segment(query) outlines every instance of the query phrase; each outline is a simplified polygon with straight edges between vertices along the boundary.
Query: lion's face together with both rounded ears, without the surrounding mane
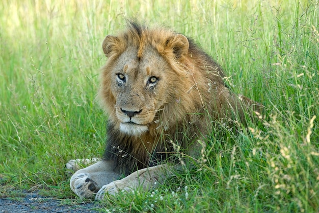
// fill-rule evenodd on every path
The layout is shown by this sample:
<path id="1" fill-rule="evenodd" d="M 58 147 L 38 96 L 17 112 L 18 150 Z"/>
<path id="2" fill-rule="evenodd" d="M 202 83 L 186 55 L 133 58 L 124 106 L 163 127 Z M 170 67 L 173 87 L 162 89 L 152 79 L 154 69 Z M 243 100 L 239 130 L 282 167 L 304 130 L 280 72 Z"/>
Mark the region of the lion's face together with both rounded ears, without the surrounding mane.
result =
<path id="1" fill-rule="evenodd" d="M 156 43 L 152 45 L 151 41 L 147 40 L 153 36 L 152 34 L 145 35 L 144 38 L 139 34 L 128 35 L 127 38 L 108 36 L 103 42 L 103 50 L 109 60 L 116 57 L 111 64 L 108 63 L 108 73 L 105 73 L 110 85 L 109 96 L 112 96 L 110 107 L 113 108 L 111 110 L 115 115 L 111 115 L 111 119 L 119 122 L 122 132 L 131 135 L 147 132 L 155 121 L 156 113 L 164 110 L 164 106 L 172 102 L 171 99 L 176 97 L 178 92 L 175 91 L 177 88 L 174 89 L 176 87 L 174 82 L 180 79 L 163 54 L 156 49 Z M 166 50 L 163 51 L 175 49 L 176 53 L 173 53 L 175 57 L 182 57 L 176 54 L 187 52 L 187 39 L 182 35 L 174 35 L 169 39 L 178 39 L 180 42 L 162 43 L 160 46 L 166 45 Z"/>

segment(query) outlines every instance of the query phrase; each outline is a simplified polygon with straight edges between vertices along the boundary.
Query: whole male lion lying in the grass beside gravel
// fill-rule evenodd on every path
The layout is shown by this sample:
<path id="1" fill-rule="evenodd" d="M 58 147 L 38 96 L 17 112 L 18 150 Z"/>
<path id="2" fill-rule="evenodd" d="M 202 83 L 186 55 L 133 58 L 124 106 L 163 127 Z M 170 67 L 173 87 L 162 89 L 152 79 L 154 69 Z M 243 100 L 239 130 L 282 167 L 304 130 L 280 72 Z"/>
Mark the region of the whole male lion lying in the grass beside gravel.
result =
<path id="1" fill-rule="evenodd" d="M 178 167 L 176 146 L 197 157 L 212 122 L 245 122 L 245 113 L 260 109 L 229 90 L 221 66 L 193 39 L 170 29 L 130 20 L 102 49 L 108 60 L 97 97 L 108 114 L 107 146 L 102 160 L 70 179 L 81 199 L 163 183 Z M 78 161 L 67 168 L 78 169 Z"/>

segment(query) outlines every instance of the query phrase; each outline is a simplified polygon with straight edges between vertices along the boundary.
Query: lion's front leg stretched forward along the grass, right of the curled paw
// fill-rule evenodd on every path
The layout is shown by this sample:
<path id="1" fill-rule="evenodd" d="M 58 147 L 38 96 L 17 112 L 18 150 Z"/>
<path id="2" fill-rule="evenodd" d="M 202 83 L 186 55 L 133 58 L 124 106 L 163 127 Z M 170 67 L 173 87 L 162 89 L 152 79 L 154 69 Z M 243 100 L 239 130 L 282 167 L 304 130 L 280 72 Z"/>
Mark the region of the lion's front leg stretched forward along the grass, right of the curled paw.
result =
<path id="1" fill-rule="evenodd" d="M 149 190 L 156 185 L 163 183 L 167 177 L 167 164 L 156 165 L 138 170 L 121 180 L 115 180 L 103 185 L 95 196 L 95 200 L 102 200 L 105 194 L 115 195 L 121 191 L 132 191 L 139 187 Z"/>

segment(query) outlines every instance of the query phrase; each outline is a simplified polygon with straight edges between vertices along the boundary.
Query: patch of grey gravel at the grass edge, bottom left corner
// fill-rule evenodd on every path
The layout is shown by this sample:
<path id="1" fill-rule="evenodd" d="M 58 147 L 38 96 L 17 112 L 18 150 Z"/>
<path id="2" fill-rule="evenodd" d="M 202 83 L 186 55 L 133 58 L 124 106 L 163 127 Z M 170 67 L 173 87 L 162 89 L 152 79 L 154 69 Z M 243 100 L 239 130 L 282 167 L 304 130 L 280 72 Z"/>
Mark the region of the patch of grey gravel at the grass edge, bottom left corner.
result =
<path id="1" fill-rule="evenodd" d="M 0 213 L 100 212 L 94 210 L 96 208 L 98 206 L 94 203 L 65 204 L 59 199 L 41 197 L 35 193 L 26 193 L 26 196 L 19 200 L 0 198 Z"/>

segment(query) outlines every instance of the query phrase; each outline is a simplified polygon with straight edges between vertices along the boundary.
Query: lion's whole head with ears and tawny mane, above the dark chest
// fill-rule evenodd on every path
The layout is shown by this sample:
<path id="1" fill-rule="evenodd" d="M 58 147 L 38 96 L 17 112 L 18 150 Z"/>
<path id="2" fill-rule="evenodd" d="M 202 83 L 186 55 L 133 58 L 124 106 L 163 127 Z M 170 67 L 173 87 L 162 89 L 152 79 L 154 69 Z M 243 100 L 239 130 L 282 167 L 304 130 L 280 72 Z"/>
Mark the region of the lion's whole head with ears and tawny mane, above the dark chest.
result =
<path id="1" fill-rule="evenodd" d="M 189 38 L 167 29 L 130 23 L 123 34 L 107 36 L 102 46 L 109 59 L 100 96 L 123 133 L 140 135 L 158 125 L 169 128 L 208 101 L 201 100 L 199 90 L 207 93 L 214 85 L 223 85 L 219 66 L 206 55 L 197 61 L 193 55 L 198 50 L 190 50 Z M 215 76 L 214 81 L 207 75 Z"/>

